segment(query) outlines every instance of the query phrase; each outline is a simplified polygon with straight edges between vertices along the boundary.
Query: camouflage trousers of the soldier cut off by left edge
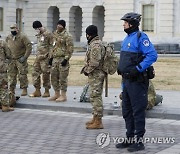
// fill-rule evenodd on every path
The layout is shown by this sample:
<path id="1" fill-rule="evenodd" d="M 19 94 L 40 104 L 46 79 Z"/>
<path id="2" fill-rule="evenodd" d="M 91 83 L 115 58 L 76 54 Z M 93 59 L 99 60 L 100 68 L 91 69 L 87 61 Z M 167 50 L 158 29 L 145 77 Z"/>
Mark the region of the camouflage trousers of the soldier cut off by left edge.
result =
<path id="1" fill-rule="evenodd" d="M 7 73 L 0 73 L 0 104 L 4 106 L 9 105 Z"/>

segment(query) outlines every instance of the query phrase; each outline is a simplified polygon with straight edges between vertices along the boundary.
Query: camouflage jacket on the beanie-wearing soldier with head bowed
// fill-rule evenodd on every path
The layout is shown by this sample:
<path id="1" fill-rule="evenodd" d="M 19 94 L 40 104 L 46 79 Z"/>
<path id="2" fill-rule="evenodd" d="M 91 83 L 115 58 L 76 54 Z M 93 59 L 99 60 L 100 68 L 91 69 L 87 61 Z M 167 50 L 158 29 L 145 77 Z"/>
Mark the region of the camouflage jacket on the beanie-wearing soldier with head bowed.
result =
<path id="1" fill-rule="evenodd" d="M 49 56 L 53 47 L 52 33 L 44 29 L 43 33 L 37 34 L 37 58 L 45 59 Z"/>

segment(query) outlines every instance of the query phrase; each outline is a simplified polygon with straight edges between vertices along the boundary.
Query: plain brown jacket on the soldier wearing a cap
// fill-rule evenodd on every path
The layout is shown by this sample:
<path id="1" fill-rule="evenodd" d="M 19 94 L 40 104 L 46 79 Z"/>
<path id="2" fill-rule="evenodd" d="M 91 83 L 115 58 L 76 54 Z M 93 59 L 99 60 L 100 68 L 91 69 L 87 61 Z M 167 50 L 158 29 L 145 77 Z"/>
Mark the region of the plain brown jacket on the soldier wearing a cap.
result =
<path id="1" fill-rule="evenodd" d="M 18 32 L 16 36 L 12 34 L 6 38 L 9 49 L 11 50 L 12 59 L 19 59 L 24 56 L 28 58 L 32 51 L 32 44 L 28 37 Z"/>

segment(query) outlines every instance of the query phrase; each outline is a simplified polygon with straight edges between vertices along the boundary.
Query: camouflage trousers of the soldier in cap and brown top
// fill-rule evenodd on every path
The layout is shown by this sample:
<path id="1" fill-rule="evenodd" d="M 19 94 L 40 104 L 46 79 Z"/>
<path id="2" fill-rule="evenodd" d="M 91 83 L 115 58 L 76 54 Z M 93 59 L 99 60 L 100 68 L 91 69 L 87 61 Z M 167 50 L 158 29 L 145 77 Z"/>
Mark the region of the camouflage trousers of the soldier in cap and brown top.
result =
<path id="1" fill-rule="evenodd" d="M 28 87 L 27 73 L 28 73 L 27 61 L 25 61 L 24 63 L 20 63 L 18 60 L 12 60 L 8 66 L 10 89 L 16 88 L 17 75 L 19 76 L 21 88 L 27 88 Z"/>

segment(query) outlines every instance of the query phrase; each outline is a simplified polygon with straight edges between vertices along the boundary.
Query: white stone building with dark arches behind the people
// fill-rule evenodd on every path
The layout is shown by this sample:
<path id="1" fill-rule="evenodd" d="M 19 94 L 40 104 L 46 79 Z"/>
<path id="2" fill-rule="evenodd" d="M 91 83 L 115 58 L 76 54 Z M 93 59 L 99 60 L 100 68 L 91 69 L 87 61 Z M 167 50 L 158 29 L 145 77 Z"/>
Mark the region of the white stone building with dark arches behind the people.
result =
<path id="1" fill-rule="evenodd" d="M 0 0 L 0 34 L 7 36 L 17 22 L 35 41 L 34 20 L 53 31 L 64 19 L 75 42 L 86 42 L 90 24 L 98 26 L 104 41 L 117 41 L 126 35 L 120 18 L 127 12 L 142 14 L 140 29 L 153 43 L 180 44 L 180 0 Z"/>

